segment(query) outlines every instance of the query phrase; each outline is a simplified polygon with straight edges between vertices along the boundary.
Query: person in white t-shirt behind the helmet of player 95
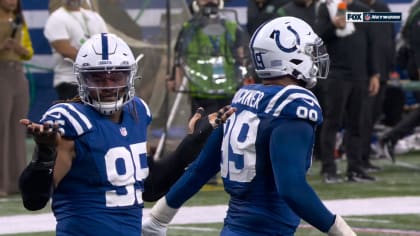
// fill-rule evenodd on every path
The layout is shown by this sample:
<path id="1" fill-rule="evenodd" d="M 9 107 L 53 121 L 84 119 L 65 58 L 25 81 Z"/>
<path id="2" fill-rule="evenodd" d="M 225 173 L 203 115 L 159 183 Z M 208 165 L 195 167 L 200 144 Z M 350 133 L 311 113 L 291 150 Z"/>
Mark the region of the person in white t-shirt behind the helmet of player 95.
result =
<path id="1" fill-rule="evenodd" d="M 93 34 L 108 32 L 102 17 L 81 8 L 82 0 L 62 0 L 62 6 L 51 13 L 44 28 L 55 60 L 53 86 L 59 100 L 78 94 L 73 62 L 81 45 Z"/>

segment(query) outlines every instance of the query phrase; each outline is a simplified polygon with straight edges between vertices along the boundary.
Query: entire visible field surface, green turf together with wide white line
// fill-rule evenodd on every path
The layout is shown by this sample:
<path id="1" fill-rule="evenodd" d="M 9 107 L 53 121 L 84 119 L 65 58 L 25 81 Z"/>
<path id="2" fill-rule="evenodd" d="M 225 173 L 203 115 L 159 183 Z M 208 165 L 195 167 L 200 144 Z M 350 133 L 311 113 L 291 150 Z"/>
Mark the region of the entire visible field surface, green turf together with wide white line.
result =
<path id="1" fill-rule="evenodd" d="M 390 160 L 373 160 L 374 164 L 383 168 L 382 171 L 373 173 L 377 178 L 372 183 L 342 183 L 326 185 L 322 183 L 319 175 L 319 162 L 315 161 L 311 168 L 308 179 L 317 193 L 325 200 L 326 204 L 337 211 L 344 211 L 344 218 L 355 229 L 358 235 L 419 235 L 420 236 L 420 153 L 409 153 L 397 156 L 397 162 L 394 164 Z M 338 161 L 340 170 L 344 173 L 346 161 Z M 397 198 L 399 197 L 399 198 Z M 370 198 L 367 201 L 360 199 Z M 384 200 L 385 198 L 385 200 Z M 388 198 L 388 199 L 387 199 Z M 344 199 L 337 202 L 334 199 Z M 354 200 L 351 200 L 354 199 Z M 407 199 L 415 199 L 413 203 L 408 203 Z M 214 215 L 206 209 L 216 209 L 218 211 L 218 220 L 210 221 L 212 223 L 191 222 L 197 216 L 188 216 L 179 214 L 184 219 L 174 219 L 174 224 L 170 225 L 168 236 L 215 236 L 218 235 L 222 227 L 224 207 L 226 207 L 228 197 L 224 193 L 222 185 L 205 186 L 195 197 L 190 199 L 185 206 L 211 206 L 211 208 L 200 208 L 197 214 L 207 217 Z M 380 202 L 384 201 L 384 202 Z M 331 205 L 336 203 L 336 205 Z M 383 208 L 381 208 L 381 204 Z M 415 204 L 410 209 L 410 204 Z M 379 207 L 378 207 L 379 205 Z M 146 204 L 146 212 L 152 206 Z M 346 209 L 348 212 L 345 212 Z M 32 215 L 32 218 L 39 219 L 38 226 L 42 226 L 42 215 L 47 215 L 50 224 L 53 224 L 49 207 L 38 212 L 26 211 L 20 202 L 19 196 L 0 198 L 0 235 L 54 235 L 49 232 L 31 232 L 31 220 L 25 215 Z M 358 212 L 357 214 L 355 212 Z M 181 213 L 181 212 L 180 212 Z M 197 215 L 196 214 L 196 215 Z M 352 215 L 353 214 L 353 215 Z M 19 217 L 17 217 L 19 216 Z M 26 233 L 5 233 L 5 229 L 10 226 L 10 220 L 18 220 L 19 225 L 13 226 L 15 232 Z M 52 219 L 52 220 L 51 220 Z M 9 220 L 9 221 L 8 221 Z M 175 224 L 176 222 L 188 222 Z M 216 222 L 216 223 L 215 223 Z M 45 222 L 47 224 L 47 222 Z M 53 226 L 50 226 L 50 228 Z M 10 228 L 10 227 L 9 227 Z M 52 228 L 53 229 L 53 228 Z M 51 229 L 51 230 L 52 230 Z M 297 236 L 323 235 L 318 230 L 312 228 L 305 222 L 299 227 Z"/>

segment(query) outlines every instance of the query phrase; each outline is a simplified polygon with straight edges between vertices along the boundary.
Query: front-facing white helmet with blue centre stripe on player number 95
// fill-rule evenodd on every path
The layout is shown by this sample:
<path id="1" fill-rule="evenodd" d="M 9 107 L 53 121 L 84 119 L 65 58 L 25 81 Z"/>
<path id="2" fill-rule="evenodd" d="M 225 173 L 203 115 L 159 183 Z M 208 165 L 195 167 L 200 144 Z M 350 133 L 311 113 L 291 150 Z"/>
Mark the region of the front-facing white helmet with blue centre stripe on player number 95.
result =
<path id="1" fill-rule="evenodd" d="M 77 53 L 74 71 L 81 100 L 111 115 L 134 97 L 137 63 L 128 45 L 114 34 L 96 34 Z"/>

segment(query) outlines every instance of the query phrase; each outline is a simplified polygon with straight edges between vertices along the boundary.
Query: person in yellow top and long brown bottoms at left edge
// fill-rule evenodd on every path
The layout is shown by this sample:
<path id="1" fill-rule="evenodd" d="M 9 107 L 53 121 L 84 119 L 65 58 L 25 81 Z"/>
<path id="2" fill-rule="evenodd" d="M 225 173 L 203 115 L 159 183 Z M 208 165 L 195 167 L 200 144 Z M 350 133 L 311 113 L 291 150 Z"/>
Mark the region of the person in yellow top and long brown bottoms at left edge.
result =
<path id="1" fill-rule="evenodd" d="M 29 111 L 29 85 L 22 61 L 31 59 L 32 42 L 20 0 L 0 0 L 0 196 L 18 192 L 26 165 L 26 133 L 16 122 Z"/>

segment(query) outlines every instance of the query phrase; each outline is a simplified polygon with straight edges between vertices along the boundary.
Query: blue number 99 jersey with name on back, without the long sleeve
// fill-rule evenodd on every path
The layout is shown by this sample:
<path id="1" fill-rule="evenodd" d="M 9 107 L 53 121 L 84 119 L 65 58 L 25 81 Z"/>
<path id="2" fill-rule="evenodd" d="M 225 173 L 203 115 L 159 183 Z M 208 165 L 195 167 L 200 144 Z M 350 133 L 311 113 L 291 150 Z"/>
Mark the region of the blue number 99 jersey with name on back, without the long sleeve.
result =
<path id="1" fill-rule="evenodd" d="M 319 103 L 299 86 L 253 84 L 237 91 L 232 107 L 237 111 L 224 125 L 221 147 L 221 176 L 231 196 L 225 224 L 241 235 L 293 235 L 300 218 L 276 189 L 270 137 L 288 120 L 303 120 L 315 130 L 322 122 Z M 305 158 L 309 168 L 311 150 Z"/>

